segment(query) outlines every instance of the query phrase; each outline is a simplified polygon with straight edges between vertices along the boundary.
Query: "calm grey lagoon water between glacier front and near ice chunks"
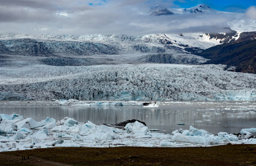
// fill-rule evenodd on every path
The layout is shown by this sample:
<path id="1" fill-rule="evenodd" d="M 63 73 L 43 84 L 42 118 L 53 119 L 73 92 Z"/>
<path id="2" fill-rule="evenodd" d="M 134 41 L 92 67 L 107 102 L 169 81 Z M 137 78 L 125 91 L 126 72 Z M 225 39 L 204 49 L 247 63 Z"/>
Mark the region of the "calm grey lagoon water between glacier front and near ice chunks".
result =
<path id="1" fill-rule="evenodd" d="M 116 124 L 129 119 L 142 120 L 150 129 L 171 133 L 189 129 L 190 125 L 211 133 L 239 133 L 243 128 L 256 127 L 255 104 L 168 104 L 150 109 L 142 106 L 125 107 L 0 107 L 0 113 L 18 113 L 35 120 L 47 117 L 59 120 L 70 117 L 79 122 Z M 178 125 L 182 124 L 182 125 Z M 183 125 L 184 124 L 184 125 Z"/>

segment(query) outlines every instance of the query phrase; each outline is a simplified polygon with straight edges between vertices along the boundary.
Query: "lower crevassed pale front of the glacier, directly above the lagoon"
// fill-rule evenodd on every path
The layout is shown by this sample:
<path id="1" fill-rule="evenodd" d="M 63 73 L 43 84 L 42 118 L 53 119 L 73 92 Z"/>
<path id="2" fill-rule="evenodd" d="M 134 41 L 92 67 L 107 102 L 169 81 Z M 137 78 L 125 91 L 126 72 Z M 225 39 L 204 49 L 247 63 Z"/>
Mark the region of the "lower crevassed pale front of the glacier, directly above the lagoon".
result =
<path id="1" fill-rule="evenodd" d="M 256 75 L 222 65 L 1 68 L 1 100 L 256 100 Z"/>

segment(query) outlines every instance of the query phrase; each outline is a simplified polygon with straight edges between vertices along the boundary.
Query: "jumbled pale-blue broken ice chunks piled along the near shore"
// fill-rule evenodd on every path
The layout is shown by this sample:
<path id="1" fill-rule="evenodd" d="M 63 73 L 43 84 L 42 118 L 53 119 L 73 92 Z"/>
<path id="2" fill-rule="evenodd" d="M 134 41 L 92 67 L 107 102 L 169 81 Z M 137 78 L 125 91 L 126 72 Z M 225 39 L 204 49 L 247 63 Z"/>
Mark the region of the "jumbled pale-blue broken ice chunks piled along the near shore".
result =
<path id="1" fill-rule="evenodd" d="M 172 134 L 164 134 L 151 132 L 138 121 L 128 123 L 120 129 L 90 121 L 77 122 L 67 117 L 58 121 L 47 118 L 40 122 L 17 114 L 12 117 L 1 120 L 0 129 L 5 130 L 0 133 L 0 151 L 49 147 L 209 147 L 227 143 L 256 143 L 255 136 L 249 132 L 255 129 L 242 129 L 237 135 L 225 132 L 214 135 L 203 129 L 190 127 L 189 130 L 179 129 Z"/>

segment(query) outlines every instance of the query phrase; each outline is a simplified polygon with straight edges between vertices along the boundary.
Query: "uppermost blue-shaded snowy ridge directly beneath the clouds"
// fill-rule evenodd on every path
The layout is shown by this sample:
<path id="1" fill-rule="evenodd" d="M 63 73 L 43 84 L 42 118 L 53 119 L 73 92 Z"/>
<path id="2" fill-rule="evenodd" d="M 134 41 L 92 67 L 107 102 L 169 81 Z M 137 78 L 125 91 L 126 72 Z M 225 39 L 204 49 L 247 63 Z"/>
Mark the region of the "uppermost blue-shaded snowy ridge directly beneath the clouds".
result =
<path id="1" fill-rule="evenodd" d="M 131 53 L 193 53 L 231 42 L 237 33 L 131 35 L 0 34 L 0 54 L 32 56 L 118 55 Z M 237 39 L 237 38 L 235 38 Z M 194 50 L 195 49 L 195 50 Z M 192 50 L 192 51 L 191 51 Z"/>

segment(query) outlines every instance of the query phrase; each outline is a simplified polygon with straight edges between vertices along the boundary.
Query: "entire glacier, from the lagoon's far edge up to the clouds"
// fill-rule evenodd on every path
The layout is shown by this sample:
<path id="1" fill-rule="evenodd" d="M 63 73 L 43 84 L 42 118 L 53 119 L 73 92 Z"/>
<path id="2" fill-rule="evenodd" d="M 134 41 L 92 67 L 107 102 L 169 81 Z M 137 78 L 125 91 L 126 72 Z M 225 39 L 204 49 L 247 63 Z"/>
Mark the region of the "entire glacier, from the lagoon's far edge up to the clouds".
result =
<path id="1" fill-rule="evenodd" d="M 255 101 L 255 75 L 192 54 L 239 37 L 0 33 L 0 100 Z"/>

